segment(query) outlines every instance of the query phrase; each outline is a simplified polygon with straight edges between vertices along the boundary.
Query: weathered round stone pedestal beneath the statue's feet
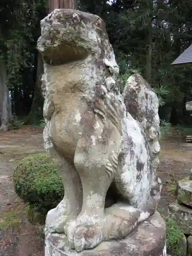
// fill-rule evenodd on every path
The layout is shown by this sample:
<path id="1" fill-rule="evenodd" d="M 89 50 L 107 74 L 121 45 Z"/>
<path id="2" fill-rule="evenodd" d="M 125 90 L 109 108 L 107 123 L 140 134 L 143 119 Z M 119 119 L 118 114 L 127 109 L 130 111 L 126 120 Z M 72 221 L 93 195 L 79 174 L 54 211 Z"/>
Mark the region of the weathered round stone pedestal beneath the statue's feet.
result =
<path id="1" fill-rule="evenodd" d="M 65 234 L 46 232 L 45 256 L 166 256 L 165 238 L 164 220 L 156 212 L 126 239 L 102 242 L 82 252 L 68 247 Z"/>

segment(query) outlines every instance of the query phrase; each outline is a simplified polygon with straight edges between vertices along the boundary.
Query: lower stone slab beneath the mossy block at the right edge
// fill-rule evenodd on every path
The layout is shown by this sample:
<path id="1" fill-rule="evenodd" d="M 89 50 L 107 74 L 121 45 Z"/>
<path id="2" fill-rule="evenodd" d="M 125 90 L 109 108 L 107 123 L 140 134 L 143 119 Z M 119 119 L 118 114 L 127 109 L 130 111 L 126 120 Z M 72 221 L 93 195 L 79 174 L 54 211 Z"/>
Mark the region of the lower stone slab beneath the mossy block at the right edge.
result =
<path id="1" fill-rule="evenodd" d="M 192 234 L 192 209 L 177 201 L 168 206 L 168 214 L 182 228 L 185 234 Z"/>

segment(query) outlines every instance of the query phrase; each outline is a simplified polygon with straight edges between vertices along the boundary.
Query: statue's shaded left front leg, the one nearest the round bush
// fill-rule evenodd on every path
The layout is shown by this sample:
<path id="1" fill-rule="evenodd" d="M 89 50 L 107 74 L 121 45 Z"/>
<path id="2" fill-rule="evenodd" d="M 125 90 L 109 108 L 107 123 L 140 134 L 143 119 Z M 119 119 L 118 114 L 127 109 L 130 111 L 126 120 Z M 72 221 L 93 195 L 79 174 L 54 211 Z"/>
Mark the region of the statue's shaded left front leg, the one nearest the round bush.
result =
<path id="1" fill-rule="evenodd" d="M 50 232 L 66 233 L 70 221 L 75 220 L 82 207 L 82 185 L 74 163 L 65 157 L 58 158 L 65 196 L 56 208 L 50 210 L 46 226 Z"/>

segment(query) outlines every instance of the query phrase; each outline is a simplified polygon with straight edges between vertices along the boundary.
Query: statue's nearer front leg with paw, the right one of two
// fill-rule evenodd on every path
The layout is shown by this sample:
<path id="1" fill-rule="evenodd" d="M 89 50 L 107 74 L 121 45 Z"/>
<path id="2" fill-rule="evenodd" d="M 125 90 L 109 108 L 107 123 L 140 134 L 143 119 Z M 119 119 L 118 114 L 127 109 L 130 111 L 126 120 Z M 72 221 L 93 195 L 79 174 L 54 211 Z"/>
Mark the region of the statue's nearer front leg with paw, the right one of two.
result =
<path id="1" fill-rule="evenodd" d="M 109 155 L 109 144 L 103 143 L 101 136 L 78 142 L 74 163 L 81 178 L 83 204 L 68 231 L 71 247 L 76 251 L 94 248 L 103 241 L 105 196 L 114 178 L 113 168 L 117 167 L 109 163 Z"/>

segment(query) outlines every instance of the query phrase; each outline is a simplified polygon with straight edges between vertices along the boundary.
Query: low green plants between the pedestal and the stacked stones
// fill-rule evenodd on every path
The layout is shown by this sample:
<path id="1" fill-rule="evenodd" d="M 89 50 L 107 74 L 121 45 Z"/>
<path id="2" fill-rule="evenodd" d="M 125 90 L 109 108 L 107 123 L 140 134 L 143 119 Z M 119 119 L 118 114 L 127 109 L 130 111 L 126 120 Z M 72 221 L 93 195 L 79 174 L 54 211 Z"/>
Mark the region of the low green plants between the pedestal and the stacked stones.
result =
<path id="1" fill-rule="evenodd" d="M 184 233 L 178 224 L 166 217 L 166 246 L 167 252 L 172 256 L 183 256 L 183 238 Z"/>

